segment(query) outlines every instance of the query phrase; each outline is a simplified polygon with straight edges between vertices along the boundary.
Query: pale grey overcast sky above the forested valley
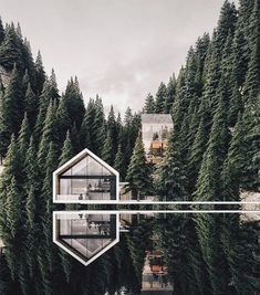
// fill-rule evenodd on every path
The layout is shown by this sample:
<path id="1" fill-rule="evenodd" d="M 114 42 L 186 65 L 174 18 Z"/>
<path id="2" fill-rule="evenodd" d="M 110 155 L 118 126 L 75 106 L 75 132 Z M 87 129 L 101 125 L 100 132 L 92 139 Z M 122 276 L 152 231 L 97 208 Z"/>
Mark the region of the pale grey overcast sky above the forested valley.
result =
<path id="1" fill-rule="evenodd" d="M 223 0 L 0 0 L 4 22 L 20 22 L 59 88 L 77 75 L 84 98 L 139 109 L 178 73 L 187 50 L 212 32 Z"/>

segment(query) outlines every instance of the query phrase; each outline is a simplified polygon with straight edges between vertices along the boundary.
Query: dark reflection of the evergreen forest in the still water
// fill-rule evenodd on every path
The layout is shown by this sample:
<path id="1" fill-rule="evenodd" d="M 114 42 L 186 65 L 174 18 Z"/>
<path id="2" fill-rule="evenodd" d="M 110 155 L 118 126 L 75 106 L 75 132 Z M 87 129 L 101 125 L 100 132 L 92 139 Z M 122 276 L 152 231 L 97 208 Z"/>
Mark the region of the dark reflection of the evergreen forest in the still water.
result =
<path id="1" fill-rule="evenodd" d="M 157 236 L 153 241 L 152 233 Z M 0 294 L 100 295 L 124 288 L 125 294 L 136 295 L 146 251 L 155 247 L 163 251 L 176 294 L 260 292 L 257 222 L 241 223 L 238 214 L 170 214 L 134 220 L 129 232 L 121 234 L 121 242 L 87 267 L 55 245 L 48 250 L 42 244 L 33 272 L 30 274 L 28 261 L 21 256 L 12 278 L 7 257 L 14 249 L 6 249 Z M 52 264 L 46 254 L 51 254 Z"/>

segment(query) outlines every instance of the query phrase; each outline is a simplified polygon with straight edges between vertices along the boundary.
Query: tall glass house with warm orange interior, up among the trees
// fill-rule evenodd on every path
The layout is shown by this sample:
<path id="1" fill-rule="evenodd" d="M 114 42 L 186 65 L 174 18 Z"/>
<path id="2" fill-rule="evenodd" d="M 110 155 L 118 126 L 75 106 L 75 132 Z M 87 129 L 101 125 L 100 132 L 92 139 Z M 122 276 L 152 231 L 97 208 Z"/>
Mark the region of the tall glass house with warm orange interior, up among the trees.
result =
<path id="1" fill-rule="evenodd" d="M 148 162 L 157 164 L 160 161 L 173 127 L 169 114 L 142 114 L 142 137 Z"/>

